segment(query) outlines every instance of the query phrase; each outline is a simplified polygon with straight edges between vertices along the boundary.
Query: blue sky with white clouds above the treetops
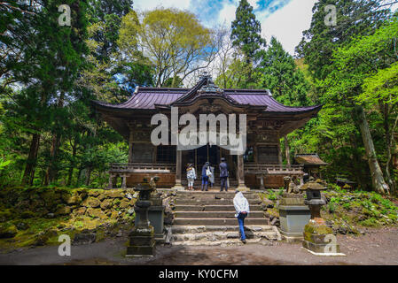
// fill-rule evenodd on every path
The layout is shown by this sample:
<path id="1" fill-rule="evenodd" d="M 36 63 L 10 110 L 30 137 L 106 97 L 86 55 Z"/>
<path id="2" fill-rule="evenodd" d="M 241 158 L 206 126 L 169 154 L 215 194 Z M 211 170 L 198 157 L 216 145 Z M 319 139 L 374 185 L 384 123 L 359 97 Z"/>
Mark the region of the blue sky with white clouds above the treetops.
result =
<path id="1" fill-rule="evenodd" d="M 308 29 L 312 18 L 312 7 L 317 0 L 247 0 L 254 7 L 256 19 L 261 22 L 261 35 L 270 41 L 277 37 L 285 50 L 294 55 L 302 31 Z M 135 0 L 137 11 L 156 7 L 175 7 L 195 13 L 203 25 L 215 27 L 235 19 L 238 0 Z M 396 6 L 396 5 L 395 5 Z"/>

